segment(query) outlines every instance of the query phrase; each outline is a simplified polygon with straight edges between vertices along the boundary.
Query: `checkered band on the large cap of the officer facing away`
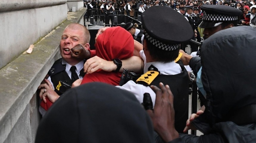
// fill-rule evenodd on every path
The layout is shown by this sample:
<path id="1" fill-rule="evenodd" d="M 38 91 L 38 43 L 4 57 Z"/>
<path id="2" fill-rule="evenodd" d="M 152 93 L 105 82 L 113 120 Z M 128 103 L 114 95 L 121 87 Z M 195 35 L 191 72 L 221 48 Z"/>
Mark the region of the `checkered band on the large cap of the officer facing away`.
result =
<path id="1" fill-rule="evenodd" d="M 180 45 L 180 44 L 164 44 L 164 43 L 152 38 L 151 36 L 149 36 L 149 34 L 146 31 L 145 31 L 145 36 L 151 44 L 153 44 L 154 46 L 156 46 L 157 48 L 162 49 L 162 50 L 173 51 L 173 50 L 176 50 L 177 48 L 179 48 L 179 45 Z"/>

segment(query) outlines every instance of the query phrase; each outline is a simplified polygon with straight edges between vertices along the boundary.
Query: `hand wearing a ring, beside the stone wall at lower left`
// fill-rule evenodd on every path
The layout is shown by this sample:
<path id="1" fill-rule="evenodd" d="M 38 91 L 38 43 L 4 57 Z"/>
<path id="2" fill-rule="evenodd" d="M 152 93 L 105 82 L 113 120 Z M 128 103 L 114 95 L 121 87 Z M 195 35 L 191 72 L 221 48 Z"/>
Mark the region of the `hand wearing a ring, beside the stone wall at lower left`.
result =
<path id="1" fill-rule="evenodd" d="M 43 92 L 40 91 L 39 97 L 40 99 L 43 99 L 45 103 L 46 103 L 46 97 L 48 97 L 49 100 L 52 103 L 54 103 L 60 96 L 53 89 L 43 89 Z"/>

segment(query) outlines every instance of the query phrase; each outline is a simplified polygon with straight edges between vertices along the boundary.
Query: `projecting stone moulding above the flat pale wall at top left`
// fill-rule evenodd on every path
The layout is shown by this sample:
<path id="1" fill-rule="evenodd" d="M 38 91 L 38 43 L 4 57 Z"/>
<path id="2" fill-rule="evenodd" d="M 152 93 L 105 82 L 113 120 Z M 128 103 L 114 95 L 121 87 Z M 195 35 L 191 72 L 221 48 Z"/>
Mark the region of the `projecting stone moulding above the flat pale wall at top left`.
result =
<path id="1" fill-rule="evenodd" d="M 65 4 L 67 0 L 1 0 L 0 12 L 23 10 L 23 9 L 34 9 L 40 7 L 51 7 L 54 5 Z"/>

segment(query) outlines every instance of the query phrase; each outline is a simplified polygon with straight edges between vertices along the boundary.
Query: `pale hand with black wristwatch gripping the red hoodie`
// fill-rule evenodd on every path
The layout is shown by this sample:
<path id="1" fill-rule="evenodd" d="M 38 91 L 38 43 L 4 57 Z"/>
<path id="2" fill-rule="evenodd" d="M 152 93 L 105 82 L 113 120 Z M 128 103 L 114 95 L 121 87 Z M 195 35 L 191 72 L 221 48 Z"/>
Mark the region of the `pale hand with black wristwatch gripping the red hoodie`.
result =
<path id="1" fill-rule="evenodd" d="M 88 60 L 86 60 L 84 64 L 84 72 L 85 73 L 93 73 L 95 71 L 104 70 L 111 72 L 115 70 L 117 66 L 113 61 L 104 60 L 98 56 L 94 56 Z"/>

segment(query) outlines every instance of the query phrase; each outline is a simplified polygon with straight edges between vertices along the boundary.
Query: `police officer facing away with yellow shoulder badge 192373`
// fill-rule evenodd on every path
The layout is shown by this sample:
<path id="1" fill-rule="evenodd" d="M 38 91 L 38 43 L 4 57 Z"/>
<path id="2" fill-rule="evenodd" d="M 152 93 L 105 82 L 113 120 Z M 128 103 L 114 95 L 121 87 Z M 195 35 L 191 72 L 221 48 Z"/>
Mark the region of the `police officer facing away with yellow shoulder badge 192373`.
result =
<path id="1" fill-rule="evenodd" d="M 157 12 L 157 13 L 156 13 Z M 161 15 L 159 15 L 161 13 Z M 188 72 L 179 60 L 180 45 L 193 37 L 193 30 L 176 10 L 166 6 L 154 6 L 141 14 L 144 28 L 143 51 L 144 74 L 134 81 L 128 81 L 118 88 L 131 91 L 140 103 L 151 97 L 155 103 L 155 93 L 150 85 L 162 82 L 170 85 L 174 95 L 175 128 L 183 133 L 188 119 Z M 143 56 L 142 56 L 143 57 Z M 143 102 L 144 103 L 144 102 Z M 177 110 L 176 110 L 177 109 Z"/>

